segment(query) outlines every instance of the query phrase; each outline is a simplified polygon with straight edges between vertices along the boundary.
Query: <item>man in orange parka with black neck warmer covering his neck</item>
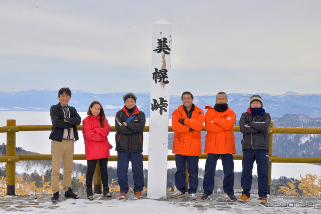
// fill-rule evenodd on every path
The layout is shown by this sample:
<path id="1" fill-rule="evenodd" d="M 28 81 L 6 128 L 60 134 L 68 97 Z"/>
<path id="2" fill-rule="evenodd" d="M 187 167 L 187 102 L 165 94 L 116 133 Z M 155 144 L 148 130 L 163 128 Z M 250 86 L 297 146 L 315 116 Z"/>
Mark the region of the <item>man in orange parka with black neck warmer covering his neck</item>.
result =
<path id="1" fill-rule="evenodd" d="M 233 154 L 235 154 L 235 142 L 233 126 L 235 124 L 235 113 L 227 106 L 227 94 L 219 92 L 216 95 L 216 104 L 214 108 L 207 108 L 205 116 L 205 128 L 207 134 L 205 136 L 205 149 L 207 159 L 205 163 L 205 173 L 203 180 L 204 194 L 202 200 L 208 200 L 209 195 L 214 190 L 214 175 L 216 163 L 221 156 L 224 179 L 223 190 L 228 194 L 232 201 L 236 201 L 234 196 L 234 162 Z"/>

